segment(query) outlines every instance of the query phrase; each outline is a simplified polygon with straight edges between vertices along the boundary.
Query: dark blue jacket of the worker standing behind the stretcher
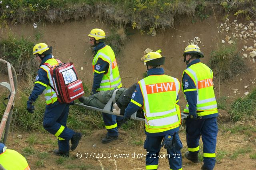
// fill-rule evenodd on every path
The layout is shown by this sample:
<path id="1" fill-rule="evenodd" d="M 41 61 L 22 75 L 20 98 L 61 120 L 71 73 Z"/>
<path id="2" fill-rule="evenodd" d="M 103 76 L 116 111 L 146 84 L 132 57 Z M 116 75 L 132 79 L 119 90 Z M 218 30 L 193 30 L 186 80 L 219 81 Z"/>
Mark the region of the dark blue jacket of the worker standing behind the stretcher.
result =
<path id="1" fill-rule="evenodd" d="M 96 47 L 93 48 L 94 53 L 96 54 L 98 52 L 98 50 L 102 49 L 105 46 L 106 46 L 106 44 L 104 42 L 98 43 L 96 45 Z M 92 84 L 92 92 L 93 93 L 96 93 L 96 90 L 100 87 L 100 82 L 102 81 L 102 77 L 104 76 L 104 74 L 106 74 L 108 72 L 108 67 L 109 67 L 108 62 L 104 61 L 101 58 L 98 58 L 96 64 L 94 65 L 94 70 L 97 70 L 100 73 L 94 72 L 93 84 Z"/>

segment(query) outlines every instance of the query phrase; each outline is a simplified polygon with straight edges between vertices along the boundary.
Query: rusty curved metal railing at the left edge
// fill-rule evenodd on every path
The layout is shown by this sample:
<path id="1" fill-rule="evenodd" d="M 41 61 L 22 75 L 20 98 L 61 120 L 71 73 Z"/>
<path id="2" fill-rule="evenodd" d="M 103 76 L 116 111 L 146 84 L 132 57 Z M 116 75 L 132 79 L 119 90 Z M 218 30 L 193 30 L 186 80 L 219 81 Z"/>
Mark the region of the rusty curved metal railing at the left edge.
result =
<path id="1" fill-rule="evenodd" d="M 4 63 L 7 65 L 7 71 L 8 71 L 8 77 L 10 83 L 7 82 L 1 82 L 0 85 L 6 87 L 10 91 L 10 95 L 8 97 L 8 104 L 6 105 L 6 109 L 4 111 L 4 115 L 2 117 L 1 123 L 0 123 L 0 142 L 6 144 L 6 140 L 8 137 L 8 131 L 10 128 L 10 123 L 12 120 L 12 111 L 14 107 L 14 98 L 17 91 L 17 75 L 16 71 L 14 70 L 14 67 L 7 61 L 0 59 L 0 63 Z M 5 129 L 5 130 L 4 130 Z M 2 136 L 4 134 L 4 138 L 2 140 Z"/>

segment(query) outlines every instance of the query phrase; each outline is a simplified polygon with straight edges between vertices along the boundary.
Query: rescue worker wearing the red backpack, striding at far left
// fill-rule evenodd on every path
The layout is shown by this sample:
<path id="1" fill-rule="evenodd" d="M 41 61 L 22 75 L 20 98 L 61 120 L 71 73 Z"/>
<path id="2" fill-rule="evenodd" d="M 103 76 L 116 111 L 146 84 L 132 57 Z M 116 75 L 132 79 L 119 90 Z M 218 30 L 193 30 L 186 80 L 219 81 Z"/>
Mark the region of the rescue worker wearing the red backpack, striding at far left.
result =
<path id="1" fill-rule="evenodd" d="M 43 127 L 58 138 L 59 147 L 58 149 L 54 149 L 53 153 L 69 157 L 69 150 L 76 149 L 82 134 L 74 132 L 74 130 L 66 126 L 70 103 L 58 102 L 57 95 L 53 89 L 54 85 L 50 74 L 50 68 L 43 65 L 43 63 L 49 63 L 50 65 L 58 64 L 58 61 L 53 58 L 51 53 L 52 47 L 48 47 L 46 43 L 38 43 L 33 48 L 33 55 L 35 55 L 36 60 L 40 63 L 40 67 L 38 69 L 38 74 L 36 75 L 34 89 L 28 97 L 27 110 L 30 113 L 34 113 L 35 108 L 33 103 L 39 95 L 44 93 L 46 108 L 44 112 Z M 71 147 L 69 146 L 69 140 L 71 140 Z"/>

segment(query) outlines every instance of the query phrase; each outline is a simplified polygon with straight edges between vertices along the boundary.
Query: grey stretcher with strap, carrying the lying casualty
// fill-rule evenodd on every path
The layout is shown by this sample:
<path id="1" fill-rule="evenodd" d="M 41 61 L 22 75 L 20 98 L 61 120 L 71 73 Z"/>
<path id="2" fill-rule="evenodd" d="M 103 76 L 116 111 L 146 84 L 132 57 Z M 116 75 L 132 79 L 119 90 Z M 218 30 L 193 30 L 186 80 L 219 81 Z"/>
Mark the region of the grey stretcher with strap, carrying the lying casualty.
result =
<path id="1" fill-rule="evenodd" d="M 118 89 L 116 89 L 114 91 L 114 93 L 112 94 L 112 97 L 109 99 L 108 103 L 106 103 L 104 109 L 100 109 L 98 107 L 93 107 L 93 106 L 88 106 L 88 105 L 84 105 L 83 103 L 75 103 L 76 106 L 80 106 L 80 107 L 84 107 L 86 109 L 89 109 L 89 110 L 94 110 L 94 111 L 99 111 L 99 112 L 102 112 L 102 113 L 108 113 L 110 115 L 116 115 L 112 112 L 112 105 L 114 103 L 116 103 L 116 91 Z M 136 121 L 144 121 L 143 118 L 140 118 L 140 117 L 137 117 L 137 112 L 135 112 L 134 114 L 132 114 L 131 116 L 131 119 L 134 119 Z M 116 116 L 120 116 L 120 117 L 124 117 L 123 115 L 116 115 Z M 184 113 L 181 113 L 181 119 L 186 119 L 188 117 L 188 114 L 184 114 Z"/>

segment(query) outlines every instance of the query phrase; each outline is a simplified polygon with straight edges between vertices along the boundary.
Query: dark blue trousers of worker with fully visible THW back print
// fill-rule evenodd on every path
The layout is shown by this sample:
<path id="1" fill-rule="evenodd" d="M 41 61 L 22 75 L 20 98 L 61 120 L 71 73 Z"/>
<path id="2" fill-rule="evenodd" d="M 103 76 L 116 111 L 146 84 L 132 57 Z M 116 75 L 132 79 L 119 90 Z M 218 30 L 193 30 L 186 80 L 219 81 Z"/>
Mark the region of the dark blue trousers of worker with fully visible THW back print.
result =
<path id="1" fill-rule="evenodd" d="M 178 133 L 178 132 L 177 132 Z M 168 156 L 168 161 L 170 169 L 179 170 L 182 168 L 182 156 L 180 150 L 175 148 L 167 149 L 167 156 L 158 155 L 161 149 L 161 144 L 164 136 L 147 136 L 144 142 L 144 149 L 147 150 L 146 154 L 146 169 L 157 169 L 159 157 L 166 158 Z"/>

